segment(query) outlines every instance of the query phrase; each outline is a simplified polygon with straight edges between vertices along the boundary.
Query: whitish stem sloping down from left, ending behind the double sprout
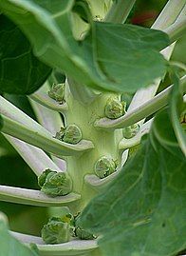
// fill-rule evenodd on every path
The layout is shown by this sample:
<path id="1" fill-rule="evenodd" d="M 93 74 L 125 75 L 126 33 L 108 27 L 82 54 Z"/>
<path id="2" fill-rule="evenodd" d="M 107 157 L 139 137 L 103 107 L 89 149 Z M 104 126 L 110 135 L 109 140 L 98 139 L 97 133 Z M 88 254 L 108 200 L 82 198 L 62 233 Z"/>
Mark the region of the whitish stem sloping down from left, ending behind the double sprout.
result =
<path id="1" fill-rule="evenodd" d="M 9 135 L 4 134 L 4 136 L 37 176 L 41 175 L 46 168 L 62 171 L 42 149 L 31 146 Z"/>

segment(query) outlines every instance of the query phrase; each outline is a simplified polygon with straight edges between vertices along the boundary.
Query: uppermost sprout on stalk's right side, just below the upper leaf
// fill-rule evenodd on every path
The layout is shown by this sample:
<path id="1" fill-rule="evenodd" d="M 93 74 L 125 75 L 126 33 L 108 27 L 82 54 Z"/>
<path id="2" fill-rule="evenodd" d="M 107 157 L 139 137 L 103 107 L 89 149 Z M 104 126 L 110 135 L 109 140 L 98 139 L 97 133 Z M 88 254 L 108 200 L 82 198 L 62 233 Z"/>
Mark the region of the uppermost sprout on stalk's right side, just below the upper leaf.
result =
<path id="1" fill-rule="evenodd" d="M 121 102 L 118 98 L 109 99 L 104 108 L 105 116 L 110 119 L 121 117 L 125 113 L 126 103 Z"/>

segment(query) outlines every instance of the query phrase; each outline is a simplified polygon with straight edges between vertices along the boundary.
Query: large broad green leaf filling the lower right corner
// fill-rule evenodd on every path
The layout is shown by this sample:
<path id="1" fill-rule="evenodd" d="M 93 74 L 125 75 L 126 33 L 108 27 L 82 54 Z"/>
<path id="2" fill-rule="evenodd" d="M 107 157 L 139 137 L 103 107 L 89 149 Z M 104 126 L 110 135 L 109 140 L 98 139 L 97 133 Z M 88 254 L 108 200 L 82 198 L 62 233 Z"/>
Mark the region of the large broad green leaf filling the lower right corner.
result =
<path id="1" fill-rule="evenodd" d="M 185 248 L 185 168 L 167 110 L 161 111 L 137 153 L 84 209 L 80 225 L 102 234 L 103 255 L 171 256 Z"/>

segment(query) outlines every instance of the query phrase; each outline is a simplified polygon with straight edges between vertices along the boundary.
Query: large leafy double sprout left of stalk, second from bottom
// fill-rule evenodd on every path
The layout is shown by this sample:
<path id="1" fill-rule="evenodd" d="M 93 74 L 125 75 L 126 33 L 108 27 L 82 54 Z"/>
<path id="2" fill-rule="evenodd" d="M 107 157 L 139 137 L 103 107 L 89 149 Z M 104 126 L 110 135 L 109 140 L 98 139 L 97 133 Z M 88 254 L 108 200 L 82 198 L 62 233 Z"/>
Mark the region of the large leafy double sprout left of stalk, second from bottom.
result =
<path id="1" fill-rule="evenodd" d="M 51 197 L 67 195 L 72 190 L 72 180 L 65 172 L 46 169 L 38 178 L 41 191 Z"/>

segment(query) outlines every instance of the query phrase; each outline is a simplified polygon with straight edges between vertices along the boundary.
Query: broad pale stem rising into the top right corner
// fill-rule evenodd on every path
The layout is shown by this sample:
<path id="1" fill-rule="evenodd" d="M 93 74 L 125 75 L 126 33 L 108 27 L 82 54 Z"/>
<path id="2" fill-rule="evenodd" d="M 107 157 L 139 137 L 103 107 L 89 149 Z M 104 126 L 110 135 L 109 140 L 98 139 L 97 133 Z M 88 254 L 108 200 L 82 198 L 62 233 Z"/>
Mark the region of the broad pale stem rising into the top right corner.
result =
<path id="1" fill-rule="evenodd" d="M 176 21 L 178 14 L 184 7 L 185 0 L 169 0 L 158 15 L 152 29 L 165 30 Z"/>

